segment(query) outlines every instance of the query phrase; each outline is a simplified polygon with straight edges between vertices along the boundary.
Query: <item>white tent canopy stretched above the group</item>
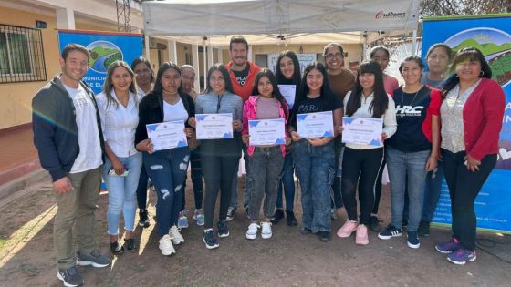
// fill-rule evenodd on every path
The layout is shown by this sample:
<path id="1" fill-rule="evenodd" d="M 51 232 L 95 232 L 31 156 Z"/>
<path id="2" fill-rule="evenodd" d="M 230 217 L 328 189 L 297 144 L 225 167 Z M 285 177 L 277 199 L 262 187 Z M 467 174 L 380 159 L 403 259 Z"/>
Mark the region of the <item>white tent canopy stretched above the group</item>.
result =
<path id="1" fill-rule="evenodd" d="M 143 3 L 146 36 L 190 44 L 228 45 L 243 35 L 251 45 L 355 44 L 381 32 L 414 30 L 418 0 L 170 0 Z M 354 32 L 360 31 L 360 32 Z M 372 33 L 371 33 L 372 32 Z M 364 35 L 367 37 L 364 37 Z"/>

